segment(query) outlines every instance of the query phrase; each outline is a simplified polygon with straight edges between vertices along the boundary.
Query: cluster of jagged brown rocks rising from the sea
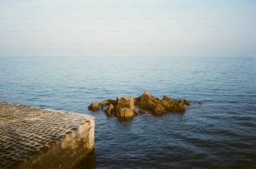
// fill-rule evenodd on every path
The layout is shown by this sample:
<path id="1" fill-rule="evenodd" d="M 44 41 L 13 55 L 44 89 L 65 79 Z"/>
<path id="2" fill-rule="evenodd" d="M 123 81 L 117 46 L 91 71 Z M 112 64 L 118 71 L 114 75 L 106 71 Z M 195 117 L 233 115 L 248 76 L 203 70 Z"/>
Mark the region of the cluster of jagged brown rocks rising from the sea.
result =
<path id="1" fill-rule="evenodd" d="M 172 100 L 171 97 L 163 96 L 160 100 L 151 95 L 149 92 L 144 92 L 140 97 L 116 97 L 116 100 L 105 100 L 102 102 L 92 102 L 88 107 L 93 112 L 98 112 L 100 109 L 105 109 L 107 116 L 115 116 L 119 118 L 132 118 L 138 112 L 140 114 L 146 111 L 152 112 L 154 115 L 162 115 L 166 112 L 185 112 L 186 106 L 190 102 L 187 100 Z"/>

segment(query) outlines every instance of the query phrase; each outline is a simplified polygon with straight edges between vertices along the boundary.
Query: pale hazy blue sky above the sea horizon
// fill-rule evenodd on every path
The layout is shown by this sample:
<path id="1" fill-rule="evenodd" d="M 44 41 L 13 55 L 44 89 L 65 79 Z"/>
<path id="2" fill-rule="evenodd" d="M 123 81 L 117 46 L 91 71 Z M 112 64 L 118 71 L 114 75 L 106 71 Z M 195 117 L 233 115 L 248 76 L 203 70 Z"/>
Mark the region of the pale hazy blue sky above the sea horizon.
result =
<path id="1" fill-rule="evenodd" d="M 13 55 L 255 56 L 256 0 L 1 0 Z"/>

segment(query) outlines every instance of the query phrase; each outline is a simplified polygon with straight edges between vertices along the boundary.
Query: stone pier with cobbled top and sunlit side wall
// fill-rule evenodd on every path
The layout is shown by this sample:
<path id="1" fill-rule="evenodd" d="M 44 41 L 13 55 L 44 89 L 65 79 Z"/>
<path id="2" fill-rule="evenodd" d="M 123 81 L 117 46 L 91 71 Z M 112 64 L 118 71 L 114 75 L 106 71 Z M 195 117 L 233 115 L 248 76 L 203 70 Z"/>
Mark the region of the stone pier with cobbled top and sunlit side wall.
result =
<path id="1" fill-rule="evenodd" d="M 72 168 L 94 143 L 94 117 L 0 102 L 0 168 Z"/>

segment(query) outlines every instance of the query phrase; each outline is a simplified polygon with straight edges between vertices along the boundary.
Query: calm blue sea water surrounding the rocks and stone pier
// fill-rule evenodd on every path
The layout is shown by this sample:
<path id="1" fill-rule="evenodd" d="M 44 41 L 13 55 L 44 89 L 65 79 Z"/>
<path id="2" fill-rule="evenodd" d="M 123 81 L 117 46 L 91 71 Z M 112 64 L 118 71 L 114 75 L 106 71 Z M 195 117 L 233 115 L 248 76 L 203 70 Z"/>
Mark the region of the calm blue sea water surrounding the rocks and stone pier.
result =
<path id="1" fill-rule="evenodd" d="M 146 90 L 192 105 L 129 122 L 87 110 Z M 253 57 L 0 57 L 0 101 L 95 116 L 95 152 L 77 168 L 256 168 Z"/>

